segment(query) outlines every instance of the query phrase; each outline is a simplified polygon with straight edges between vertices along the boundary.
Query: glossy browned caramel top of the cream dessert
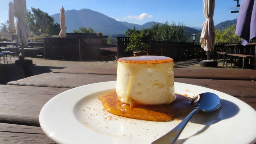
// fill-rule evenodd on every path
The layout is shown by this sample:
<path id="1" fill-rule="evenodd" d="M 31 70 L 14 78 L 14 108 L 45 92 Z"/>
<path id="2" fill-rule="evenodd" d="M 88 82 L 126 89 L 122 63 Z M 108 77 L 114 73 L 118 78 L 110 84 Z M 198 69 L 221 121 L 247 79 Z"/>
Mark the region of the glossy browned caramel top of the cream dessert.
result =
<path id="1" fill-rule="evenodd" d="M 172 58 L 164 56 L 135 56 L 135 57 L 123 57 L 117 60 L 121 63 L 137 63 L 137 64 L 147 64 L 147 63 L 170 63 L 173 62 Z"/>

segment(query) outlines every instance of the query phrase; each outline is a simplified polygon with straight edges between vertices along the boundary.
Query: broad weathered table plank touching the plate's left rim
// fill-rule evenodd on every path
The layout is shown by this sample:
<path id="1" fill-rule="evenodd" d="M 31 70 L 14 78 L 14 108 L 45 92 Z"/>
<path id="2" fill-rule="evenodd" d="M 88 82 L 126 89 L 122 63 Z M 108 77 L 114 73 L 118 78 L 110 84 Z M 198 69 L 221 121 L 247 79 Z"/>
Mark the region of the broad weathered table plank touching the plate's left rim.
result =
<path id="1" fill-rule="evenodd" d="M 39 125 L 44 104 L 67 88 L 0 85 L 0 122 Z"/>

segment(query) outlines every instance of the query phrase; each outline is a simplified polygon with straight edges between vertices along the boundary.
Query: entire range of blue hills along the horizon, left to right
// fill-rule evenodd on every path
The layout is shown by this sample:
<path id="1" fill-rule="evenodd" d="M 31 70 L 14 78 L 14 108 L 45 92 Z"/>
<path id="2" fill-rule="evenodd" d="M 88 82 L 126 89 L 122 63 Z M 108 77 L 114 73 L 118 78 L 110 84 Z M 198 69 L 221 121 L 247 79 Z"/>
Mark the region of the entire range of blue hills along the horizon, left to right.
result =
<path id="1" fill-rule="evenodd" d="M 55 23 L 59 23 L 59 13 L 51 16 L 54 18 Z M 103 35 L 123 35 L 128 28 L 133 29 L 135 27 L 136 29 L 141 30 L 142 28 L 151 28 L 153 25 L 153 22 L 147 22 L 143 25 L 119 22 L 91 9 L 67 10 L 65 11 L 65 19 L 67 32 L 78 30 L 79 27 L 92 27 L 95 32 L 102 31 Z M 155 23 L 161 24 L 158 22 Z M 215 28 L 223 29 L 235 23 L 236 19 L 232 21 L 225 21 L 216 25 Z M 199 27 L 185 27 L 185 35 L 190 38 L 193 33 L 197 35 L 201 33 L 201 30 L 202 28 Z"/>

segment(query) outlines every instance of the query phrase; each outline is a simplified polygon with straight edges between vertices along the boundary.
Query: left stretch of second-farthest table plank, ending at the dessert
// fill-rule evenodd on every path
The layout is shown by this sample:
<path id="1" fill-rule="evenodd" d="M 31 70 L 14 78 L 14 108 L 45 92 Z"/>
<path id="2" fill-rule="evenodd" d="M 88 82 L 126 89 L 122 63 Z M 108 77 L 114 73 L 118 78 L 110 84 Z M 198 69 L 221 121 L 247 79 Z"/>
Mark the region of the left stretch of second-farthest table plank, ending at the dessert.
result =
<path id="1" fill-rule="evenodd" d="M 91 83 L 116 80 L 117 77 L 114 75 L 44 73 L 28 77 L 25 79 L 21 79 L 18 81 L 11 81 L 7 84 L 23 86 L 75 88 L 78 86 Z"/>

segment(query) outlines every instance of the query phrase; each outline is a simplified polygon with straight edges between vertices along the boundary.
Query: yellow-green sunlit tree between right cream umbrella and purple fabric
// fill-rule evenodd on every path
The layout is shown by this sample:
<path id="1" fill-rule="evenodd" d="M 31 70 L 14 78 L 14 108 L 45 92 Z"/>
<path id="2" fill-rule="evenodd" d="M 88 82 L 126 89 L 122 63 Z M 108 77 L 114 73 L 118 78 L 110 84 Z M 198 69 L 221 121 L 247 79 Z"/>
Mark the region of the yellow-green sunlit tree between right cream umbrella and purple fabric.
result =
<path id="1" fill-rule="evenodd" d="M 215 42 L 216 43 L 237 43 L 241 42 L 242 39 L 235 34 L 236 24 L 228 26 L 226 29 L 215 30 Z"/>

